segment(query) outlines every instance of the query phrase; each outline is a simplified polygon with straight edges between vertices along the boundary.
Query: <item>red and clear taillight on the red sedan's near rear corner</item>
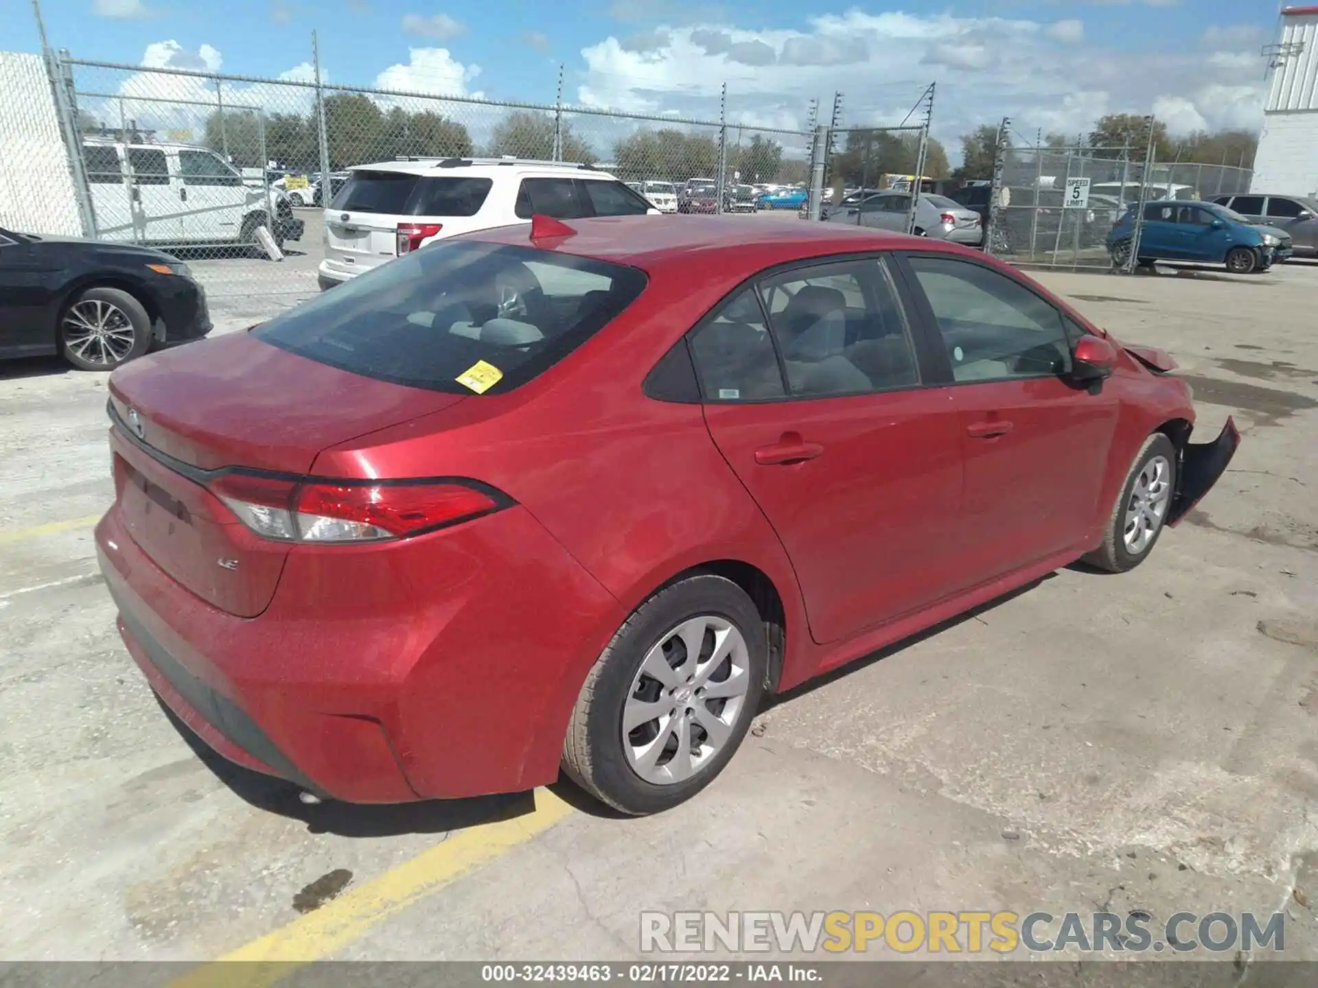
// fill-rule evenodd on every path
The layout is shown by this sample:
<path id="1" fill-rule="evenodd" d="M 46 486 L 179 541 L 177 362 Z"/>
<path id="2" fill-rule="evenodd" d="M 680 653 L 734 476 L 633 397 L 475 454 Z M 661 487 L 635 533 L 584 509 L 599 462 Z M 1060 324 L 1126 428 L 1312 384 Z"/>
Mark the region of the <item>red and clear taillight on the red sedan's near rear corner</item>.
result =
<path id="1" fill-rule="evenodd" d="M 355 483 L 225 473 L 208 486 L 243 524 L 278 541 L 406 539 L 503 506 L 493 494 L 453 481 Z"/>

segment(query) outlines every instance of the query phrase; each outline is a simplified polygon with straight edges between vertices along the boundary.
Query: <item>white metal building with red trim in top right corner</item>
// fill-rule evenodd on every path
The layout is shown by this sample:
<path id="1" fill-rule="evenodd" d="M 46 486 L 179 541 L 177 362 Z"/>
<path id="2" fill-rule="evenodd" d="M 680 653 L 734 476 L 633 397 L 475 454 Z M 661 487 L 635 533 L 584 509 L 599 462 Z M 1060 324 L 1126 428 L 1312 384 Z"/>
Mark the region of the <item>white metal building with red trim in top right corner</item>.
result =
<path id="1" fill-rule="evenodd" d="M 1263 192 L 1318 195 L 1318 7 L 1281 12 L 1253 184 Z"/>

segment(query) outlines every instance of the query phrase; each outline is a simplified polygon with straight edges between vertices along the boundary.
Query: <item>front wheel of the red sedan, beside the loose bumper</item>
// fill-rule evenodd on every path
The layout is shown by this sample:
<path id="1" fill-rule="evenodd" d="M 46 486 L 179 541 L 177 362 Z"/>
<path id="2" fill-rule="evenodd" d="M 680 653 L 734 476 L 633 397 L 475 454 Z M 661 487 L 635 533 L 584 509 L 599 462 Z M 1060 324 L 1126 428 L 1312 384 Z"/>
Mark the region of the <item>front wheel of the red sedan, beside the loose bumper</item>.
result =
<path id="1" fill-rule="evenodd" d="M 1161 432 L 1144 440 L 1135 465 L 1122 485 L 1122 495 L 1103 527 L 1103 543 L 1083 556 L 1085 563 L 1108 573 L 1124 573 L 1148 559 L 1172 510 L 1177 458 L 1176 447 Z M 1141 493 L 1151 486 L 1151 494 Z M 1132 512 L 1137 506 L 1147 510 L 1140 510 L 1133 518 L 1137 528 L 1132 532 Z"/>

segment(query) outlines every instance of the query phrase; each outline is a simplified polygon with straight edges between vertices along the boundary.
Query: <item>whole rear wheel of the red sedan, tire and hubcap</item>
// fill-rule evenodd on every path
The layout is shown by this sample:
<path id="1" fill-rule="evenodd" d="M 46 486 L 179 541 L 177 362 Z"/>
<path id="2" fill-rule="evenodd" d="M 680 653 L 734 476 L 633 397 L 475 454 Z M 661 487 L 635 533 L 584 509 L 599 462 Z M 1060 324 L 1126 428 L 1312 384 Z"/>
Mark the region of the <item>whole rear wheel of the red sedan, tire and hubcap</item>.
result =
<path id="1" fill-rule="evenodd" d="M 704 656 L 704 664 L 687 665 L 687 640 L 700 643 L 697 663 Z M 717 664 L 710 661 L 716 645 L 731 647 Z M 697 574 L 666 586 L 631 613 L 587 676 L 568 723 L 563 768 L 622 813 L 659 813 L 689 800 L 746 736 L 764 689 L 767 651 L 764 620 L 737 584 Z M 710 698 L 705 689 L 720 696 Z M 633 721 L 623 732 L 625 715 L 643 718 L 650 703 L 656 715 Z M 704 727 L 714 722 L 720 738 Z M 695 757 L 683 759 L 683 736 Z M 691 752 L 692 742 L 709 751 Z"/>

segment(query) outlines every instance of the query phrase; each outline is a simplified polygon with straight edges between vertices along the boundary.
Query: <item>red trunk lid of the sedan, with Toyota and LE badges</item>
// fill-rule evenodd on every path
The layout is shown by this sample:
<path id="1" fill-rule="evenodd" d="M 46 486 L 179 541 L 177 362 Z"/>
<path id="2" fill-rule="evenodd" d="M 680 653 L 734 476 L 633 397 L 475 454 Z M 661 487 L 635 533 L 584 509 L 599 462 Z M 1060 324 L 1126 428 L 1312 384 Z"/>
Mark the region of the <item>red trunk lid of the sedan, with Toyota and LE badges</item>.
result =
<path id="1" fill-rule="evenodd" d="M 258 537 L 207 483 L 227 468 L 303 474 L 327 447 L 461 395 L 352 374 L 233 333 L 117 370 L 115 498 L 133 541 L 220 610 L 266 609 L 289 543 Z"/>

